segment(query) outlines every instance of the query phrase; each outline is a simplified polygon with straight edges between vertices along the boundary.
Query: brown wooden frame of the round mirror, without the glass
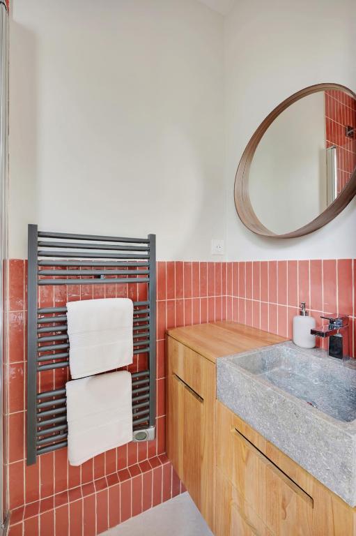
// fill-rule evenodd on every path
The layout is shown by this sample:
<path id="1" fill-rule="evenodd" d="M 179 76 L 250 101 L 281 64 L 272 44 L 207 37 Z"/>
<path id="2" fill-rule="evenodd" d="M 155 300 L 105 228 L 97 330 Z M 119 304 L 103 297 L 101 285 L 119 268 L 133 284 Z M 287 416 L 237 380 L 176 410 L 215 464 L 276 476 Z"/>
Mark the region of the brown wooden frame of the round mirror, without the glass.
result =
<path id="1" fill-rule="evenodd" d="M 314 232 L 317 229 L 322 228 L 324 225 L 332 221 L 335 216 L 340 214 L 341 211 L 348 205 L 348 203 L 353 199 L 356 194 L 356 168 L 353 170 L 353 174 L 346 184 L 343 191 L 337 196 L 337 198 L 323 211 L 319 216 L 307 225 L 304 225 L 300 229 L 297 229 L 293 232 L 287 232 L 286 234 L 275 234 L 274 232 L 265 228 L 265 226 L 259 221 L 256 216 L 254 209 L 251 205 L 251 200 L 249 198 L 249 168 L 251 166 L 252 158 L 254 158 L 254 153 L 257 149 L 258 143 L 261 141 L 261 137 L 267 131 L 268 127 L 274 119 L 276 119 L 281 112 L 284 112 L 286 108 L 291 106 L 291 104 L 299 101 L 301 98 L 306 97 L 317 93 L 318 91 L 327 91 L 327 90 L 339 90 L 344 91 L 348 96 L 355 98 L 356 94 L 348 89 L 345 86 L 340 84 L 314 84 L 313 86 L 306 87 L 297 91 L 291 97 L 286 98 L 281 104 L 274 108 L 272 112 L 265 118 L 261 125 L 257 128 L 254 135 L 249 140 L 245 151 L 242 154 L 240 163 L 238 165 L 238 170 L 235 177 L 235 207 L 238 212 L 238 216 L 242 223 L 251 231 L 256 234 L 260 234 L 263 237 L 273 237 L 273 238 L 296 238 L 302 237 L 304 234 L 309 234 Z"/>

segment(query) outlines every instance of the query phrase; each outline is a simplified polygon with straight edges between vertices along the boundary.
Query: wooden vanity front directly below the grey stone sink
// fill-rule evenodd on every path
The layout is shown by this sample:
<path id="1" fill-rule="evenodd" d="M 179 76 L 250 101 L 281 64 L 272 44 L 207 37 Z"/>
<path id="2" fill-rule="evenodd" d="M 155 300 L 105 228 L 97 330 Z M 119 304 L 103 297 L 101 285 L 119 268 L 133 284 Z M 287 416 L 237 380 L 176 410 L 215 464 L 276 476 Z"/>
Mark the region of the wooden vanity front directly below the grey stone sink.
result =
<path id="1" fill-rule="evenodd" d="M 355 509 L 217 401 L 217 536 L 353 536 Z"/>

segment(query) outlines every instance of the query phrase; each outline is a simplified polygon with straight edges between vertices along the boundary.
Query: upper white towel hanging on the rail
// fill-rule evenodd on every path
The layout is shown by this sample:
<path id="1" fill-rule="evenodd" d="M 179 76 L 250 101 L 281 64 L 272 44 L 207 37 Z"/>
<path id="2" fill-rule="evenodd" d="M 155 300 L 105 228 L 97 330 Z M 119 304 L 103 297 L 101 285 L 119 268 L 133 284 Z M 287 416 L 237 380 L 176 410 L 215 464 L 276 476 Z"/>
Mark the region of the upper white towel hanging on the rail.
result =
<path id="1" fill-rule="evenodd" d="M 69 301 L 67 310 L 69 366 L 73 379 L 132 363 L 131 299 Z"/>

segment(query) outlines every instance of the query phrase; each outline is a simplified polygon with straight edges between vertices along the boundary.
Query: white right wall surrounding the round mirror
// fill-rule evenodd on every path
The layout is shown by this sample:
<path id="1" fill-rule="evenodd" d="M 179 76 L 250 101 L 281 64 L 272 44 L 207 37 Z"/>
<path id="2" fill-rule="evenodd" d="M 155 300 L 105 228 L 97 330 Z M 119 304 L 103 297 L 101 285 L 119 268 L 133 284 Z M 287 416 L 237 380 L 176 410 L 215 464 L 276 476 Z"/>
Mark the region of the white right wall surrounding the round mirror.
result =
<path id="1" fill-rule="evenodd" d="M 350 258 L 356 199 L 300 239 L 264 239 L 233 204 L 235 172 L 268 113 L 302 87 L 339 82 L 356 91 L 355 0 L 240 0 L 225 24 L 227 251 L 231 260 Z"/>

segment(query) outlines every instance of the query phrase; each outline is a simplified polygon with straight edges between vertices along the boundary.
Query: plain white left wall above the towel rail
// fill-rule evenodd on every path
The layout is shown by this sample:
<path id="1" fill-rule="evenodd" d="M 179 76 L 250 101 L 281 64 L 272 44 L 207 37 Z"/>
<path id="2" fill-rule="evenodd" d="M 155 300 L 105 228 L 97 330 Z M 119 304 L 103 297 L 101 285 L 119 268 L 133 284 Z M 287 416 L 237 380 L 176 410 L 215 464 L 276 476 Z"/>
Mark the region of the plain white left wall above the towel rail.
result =
<path id="1" fill-rule="evenodd" d="M 10 257 L 38 223 L 155 232 L 158 258 L 208 260 L 225 232 L 222 15 L 14 0 L 11 17 Z"/>

